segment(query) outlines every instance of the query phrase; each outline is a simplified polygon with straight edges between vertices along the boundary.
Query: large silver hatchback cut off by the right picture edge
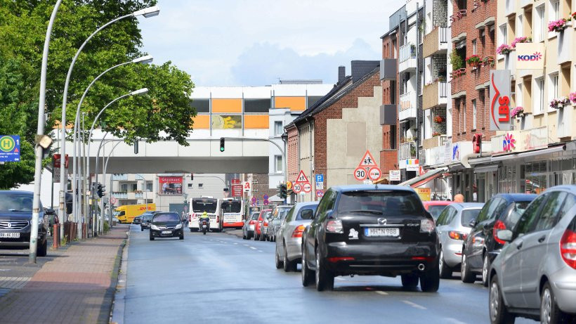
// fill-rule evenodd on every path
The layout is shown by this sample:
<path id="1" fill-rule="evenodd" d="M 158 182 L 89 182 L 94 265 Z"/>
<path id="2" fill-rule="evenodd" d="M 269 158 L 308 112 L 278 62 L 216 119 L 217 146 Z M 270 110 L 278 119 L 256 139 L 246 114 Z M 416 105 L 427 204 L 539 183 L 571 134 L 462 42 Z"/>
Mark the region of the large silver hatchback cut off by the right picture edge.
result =
<path id="1" fill-rule="evenodd" d="M 490 266 L 490 321 L 513 323 L 522 316 L 574 323 L 576 186 L 547 189 L 513 229 L 496 235 L 508 244 Z"/>

